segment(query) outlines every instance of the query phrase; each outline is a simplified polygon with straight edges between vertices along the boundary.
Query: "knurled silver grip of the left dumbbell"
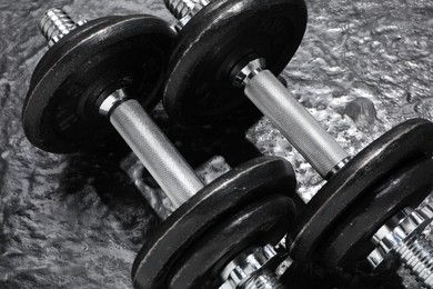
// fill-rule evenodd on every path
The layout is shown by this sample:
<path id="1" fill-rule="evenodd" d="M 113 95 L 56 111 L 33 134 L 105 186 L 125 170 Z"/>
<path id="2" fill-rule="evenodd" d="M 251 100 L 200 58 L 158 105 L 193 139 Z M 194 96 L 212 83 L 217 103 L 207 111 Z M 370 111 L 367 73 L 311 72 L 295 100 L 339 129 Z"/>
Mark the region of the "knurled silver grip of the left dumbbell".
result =
<path id="1" fill-rule="evenodd" d="M 177 208 L 203 188 L 192 168 L 137 100 L 117 107 L 110 121 Z"/>

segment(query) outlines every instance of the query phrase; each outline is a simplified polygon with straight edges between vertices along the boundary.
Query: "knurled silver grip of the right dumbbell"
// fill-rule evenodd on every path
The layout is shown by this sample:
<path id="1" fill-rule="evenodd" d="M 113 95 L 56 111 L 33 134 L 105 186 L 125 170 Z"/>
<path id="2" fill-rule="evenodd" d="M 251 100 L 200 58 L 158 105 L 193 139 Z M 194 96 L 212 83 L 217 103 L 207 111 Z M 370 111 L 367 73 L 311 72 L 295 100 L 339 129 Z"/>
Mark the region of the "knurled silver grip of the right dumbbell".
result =
<path id="1" fill-rule="evenodd" d="M 349 158 L 269 70 L 260 71 L 248 81 L 245 94 L 323 178 Z"/>

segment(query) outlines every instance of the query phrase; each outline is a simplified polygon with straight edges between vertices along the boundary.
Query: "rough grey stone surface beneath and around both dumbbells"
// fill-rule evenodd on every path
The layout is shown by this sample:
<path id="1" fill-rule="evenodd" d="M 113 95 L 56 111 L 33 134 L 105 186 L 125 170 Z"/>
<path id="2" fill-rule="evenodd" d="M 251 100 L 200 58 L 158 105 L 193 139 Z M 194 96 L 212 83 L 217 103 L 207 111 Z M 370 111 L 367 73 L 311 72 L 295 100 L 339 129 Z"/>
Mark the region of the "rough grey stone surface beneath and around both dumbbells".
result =
<path id="1" fill-rule="evenodd" d="M 305 39 L 283 77 L 351 155 L 405 119 L 433 120 L 432 1 L 308 6 Z M 158 219 L 121 169 L 124 158 L 110 150 L 46 153 L 21 128 L 30 76 L 47 50 L 37 20 L 51 7 L 77 19 L 144 12 L 173 21 L 153 0 L 0 0 L 0 288 L 131 288 L 131 263 Z M 348 110 L 360 99 L 367 110 Z M 375 118 L 356 114 L 372 110 Z M 320 177 L 269 121 L 249 138 L 292 161 L 305 200 L 320 188 Z M 407 288 L 417 287 L 407 279 Z"/>

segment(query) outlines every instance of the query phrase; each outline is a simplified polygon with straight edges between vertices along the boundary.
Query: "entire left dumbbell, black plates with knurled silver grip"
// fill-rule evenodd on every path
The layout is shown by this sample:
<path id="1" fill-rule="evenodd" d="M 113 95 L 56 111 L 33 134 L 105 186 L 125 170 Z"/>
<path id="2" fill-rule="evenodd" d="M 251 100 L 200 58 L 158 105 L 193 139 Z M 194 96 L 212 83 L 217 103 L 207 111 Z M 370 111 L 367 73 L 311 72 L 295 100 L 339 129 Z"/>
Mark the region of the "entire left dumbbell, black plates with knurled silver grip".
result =
<path id="1" fill-rule="evenodd" d="M 173 31 L 150 16 L 75 23 L 51 9 L 40 21 L 50 49 L 23 106 L 28 139 L 73 152 L 102 142 L 112 127 L 177 210 L 152 233 L 132 270 L 135 288 L 281 288 L 272 245 L 294 219 L 296 181 L 281 158 L 253 159 L 204 186 L 143 107 L 158 100 Z"/>

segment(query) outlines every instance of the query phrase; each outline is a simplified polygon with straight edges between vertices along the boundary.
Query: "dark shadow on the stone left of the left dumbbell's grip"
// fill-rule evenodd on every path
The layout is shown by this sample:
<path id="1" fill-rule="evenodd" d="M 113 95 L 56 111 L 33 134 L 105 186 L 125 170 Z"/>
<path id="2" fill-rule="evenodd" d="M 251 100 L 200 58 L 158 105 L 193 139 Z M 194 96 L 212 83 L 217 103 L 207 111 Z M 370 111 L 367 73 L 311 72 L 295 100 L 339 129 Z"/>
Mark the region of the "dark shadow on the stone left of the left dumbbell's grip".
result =
<path id="1" fill-rule="evenodd" d="M 70 156 L 68 168 L 62 176 L 60 191 L 68 198 L 68 196 L 88 191 L 85 187 L 90 186 L 98 195 L 98 201 L 102 202 L 107 211 L 118 220 L 122 230 L 130 236 L 129 239 L 133 243 L 141 245 L 142 236 L 148 229 L 158 225 L 160 219 L 149 202 L 138 193 L 129 176 L 121 169 L 120 163 L 130 153 L 123 140 L 113 139 L 104 146 Z M 79 206 L 84 208 L 77 210 L 85 210 L 88 206 L 95 205 Z M 142 219 L 149 221 L 143 225 Z M 140 230 L 141 236 L 130 233 L 134 228 L 143 228 Z"/>

